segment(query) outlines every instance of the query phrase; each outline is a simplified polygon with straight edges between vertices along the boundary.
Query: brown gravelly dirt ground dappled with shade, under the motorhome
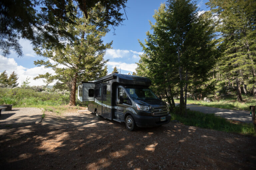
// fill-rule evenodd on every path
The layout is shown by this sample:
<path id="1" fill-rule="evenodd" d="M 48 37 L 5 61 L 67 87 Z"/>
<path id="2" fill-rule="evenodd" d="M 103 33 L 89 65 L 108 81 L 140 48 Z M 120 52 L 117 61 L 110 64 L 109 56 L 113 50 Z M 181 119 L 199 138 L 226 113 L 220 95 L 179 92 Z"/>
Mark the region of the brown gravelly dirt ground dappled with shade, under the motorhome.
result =
<path id="1" fill-rule="evenodd" d="M 1 169 L 256 169 L 256 137 L 169 123 L 128 131 L 90 112 L 14 108 L 0 117 Z"/>

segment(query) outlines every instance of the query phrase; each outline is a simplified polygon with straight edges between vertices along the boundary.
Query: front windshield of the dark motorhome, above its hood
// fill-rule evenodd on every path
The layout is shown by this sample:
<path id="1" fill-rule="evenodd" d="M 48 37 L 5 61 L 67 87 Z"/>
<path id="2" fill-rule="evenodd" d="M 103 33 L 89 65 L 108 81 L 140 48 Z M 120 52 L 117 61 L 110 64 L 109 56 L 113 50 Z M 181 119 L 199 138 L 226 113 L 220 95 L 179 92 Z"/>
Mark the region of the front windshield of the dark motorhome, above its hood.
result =
<path id="1" fill-rule="evenodd" d="M 141 100 L 156 100 L 158 99 L 156 95 L 147 88 L 140 88 L 140 87 L 127 87 L 126 88 L 129 95 L 134 99 L 141 99 Z"/>

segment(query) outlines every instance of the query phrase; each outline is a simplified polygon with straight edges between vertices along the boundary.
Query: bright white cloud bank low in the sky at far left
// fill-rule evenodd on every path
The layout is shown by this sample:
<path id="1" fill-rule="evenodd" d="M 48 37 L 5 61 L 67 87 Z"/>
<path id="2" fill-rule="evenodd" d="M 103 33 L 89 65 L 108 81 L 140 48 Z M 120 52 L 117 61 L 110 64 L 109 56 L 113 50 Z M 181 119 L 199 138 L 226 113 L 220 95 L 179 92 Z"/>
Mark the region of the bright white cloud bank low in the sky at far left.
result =
<path id="1" fill-rule="evenodd" d="M 54 74 L 54 71 L 51 68 L 44 68 L 44 66 L 40 67 L 33 67 L 33 68 L 25 68 L 21 65 L 18 65 L 14 58 L 7 58 L 0 55 L 0 72 L 6 70 L 8 76 L 14 71 L 18 75 L 18 86 L 21 86 L 22 82 L 26 80 L 26 78 L 30 78 L 30 86 L 41 86 L 46 85 L 42 79 L 33 80 L 34 77 L 38 76 L 39 74 L 45 74 L 49 72 Z"/>

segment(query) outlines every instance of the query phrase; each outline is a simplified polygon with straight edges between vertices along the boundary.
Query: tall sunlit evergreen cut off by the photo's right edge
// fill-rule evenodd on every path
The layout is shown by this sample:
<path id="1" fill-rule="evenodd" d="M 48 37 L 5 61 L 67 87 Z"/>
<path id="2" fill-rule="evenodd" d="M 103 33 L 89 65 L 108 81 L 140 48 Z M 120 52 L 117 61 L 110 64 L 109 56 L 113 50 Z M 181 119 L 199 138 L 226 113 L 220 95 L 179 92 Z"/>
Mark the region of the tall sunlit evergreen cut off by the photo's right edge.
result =
<path id="1" fill-rule="evenodd" d="M 256 1 L 210 0 L 207 4 L 218 18 L 221 68 L 225 77 L 234 77 L 237 100 L 242 101 L 244 83 L 256 97 Z"/>

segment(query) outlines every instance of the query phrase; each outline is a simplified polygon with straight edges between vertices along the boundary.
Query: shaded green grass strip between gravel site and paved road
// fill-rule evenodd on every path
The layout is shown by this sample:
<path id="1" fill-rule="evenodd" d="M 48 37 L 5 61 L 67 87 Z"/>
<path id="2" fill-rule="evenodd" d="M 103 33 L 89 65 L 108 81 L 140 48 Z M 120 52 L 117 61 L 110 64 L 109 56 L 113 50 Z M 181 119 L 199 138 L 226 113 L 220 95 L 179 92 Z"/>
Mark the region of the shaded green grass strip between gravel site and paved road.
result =
<path id="1" fill-rule="evenodd" d="M 184 125 L 208 128 L 219 131 L 235 132 L 246 135 L 256 135 L 252 124 L 228 121 L 214 114 L 204 114 L 198 111 L 187 110 L 187 116 L 172 113 L 173 120 L 178 120 Z"/>

